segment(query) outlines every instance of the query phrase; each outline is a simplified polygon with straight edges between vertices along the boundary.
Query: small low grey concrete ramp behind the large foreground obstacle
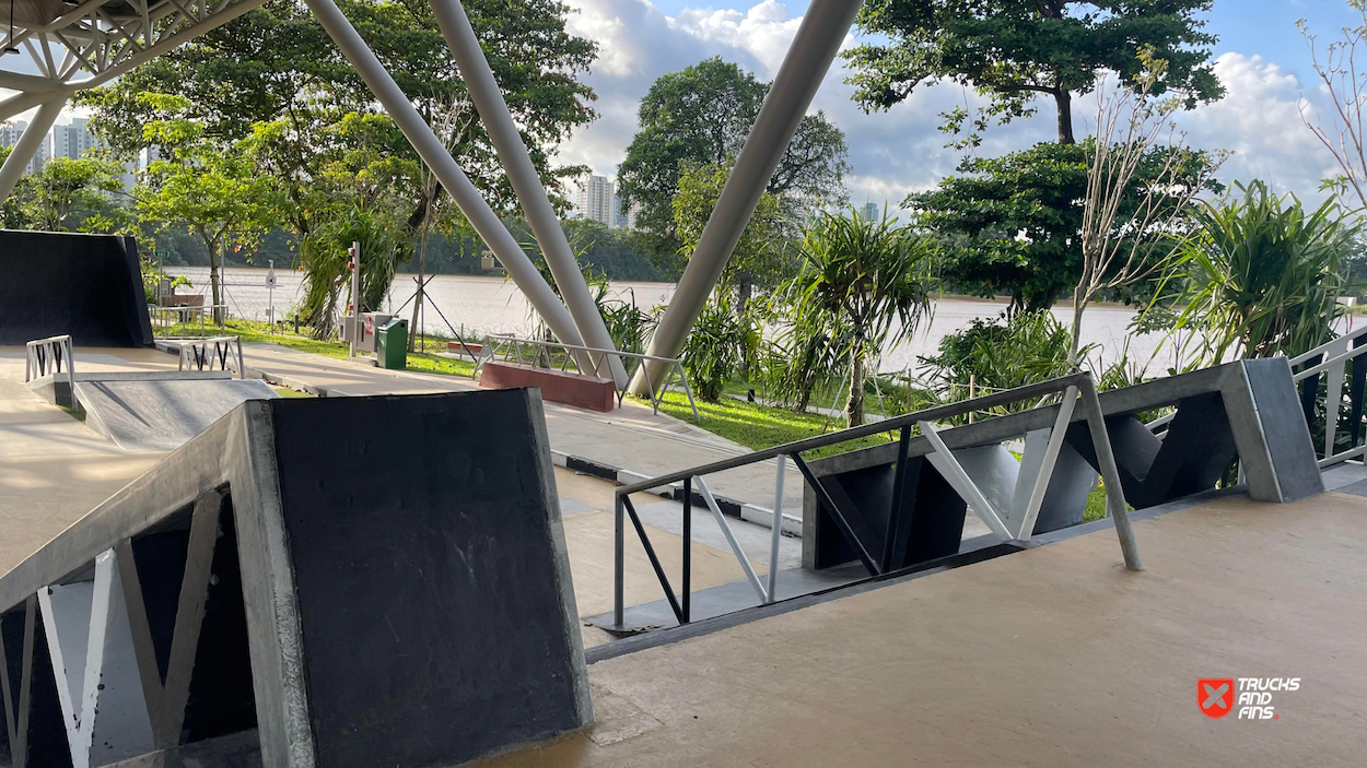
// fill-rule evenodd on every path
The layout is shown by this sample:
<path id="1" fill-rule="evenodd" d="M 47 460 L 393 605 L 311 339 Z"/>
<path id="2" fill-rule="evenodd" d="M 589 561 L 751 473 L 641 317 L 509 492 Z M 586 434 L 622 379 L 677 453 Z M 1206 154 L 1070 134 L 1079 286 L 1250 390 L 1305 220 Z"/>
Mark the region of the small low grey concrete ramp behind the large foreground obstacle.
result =
<path id="1" fill-rule="evenodd" d="M 77 381 L 86 425 L 124 451 L 174 451 L 246 400 L 279 398 L 256 379 Z"/>

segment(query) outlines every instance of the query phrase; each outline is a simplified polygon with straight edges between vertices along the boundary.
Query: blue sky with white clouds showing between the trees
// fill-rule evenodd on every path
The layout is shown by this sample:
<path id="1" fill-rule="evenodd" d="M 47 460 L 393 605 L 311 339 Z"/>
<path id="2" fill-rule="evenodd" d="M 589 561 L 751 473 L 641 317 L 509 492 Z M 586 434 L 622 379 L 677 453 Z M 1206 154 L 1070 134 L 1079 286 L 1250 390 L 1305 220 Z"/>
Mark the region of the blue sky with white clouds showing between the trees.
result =
<path id="1" fill-rule="evenodd" d="M 658 77 L 720 55 L 772 79 L 807 8 L 801 0 L 566 3 L 576 11 L 571 31 L 600 46 L 585 78 L 597 93 L 600 116 L 562 146 L 559 160 L 585 164 L 604 176 L 615 176 L 636 133 L 637 101 Z M 1333 157 L 1301 119 L 1303 100 L 1311 112 L 1325 105 L 1296 29 L 1301 18 L 1323 42 L 1338 37 L 1338 30 L 1353 22 L 1355 11 L 1344 0 L 1215 0 L 1206 29 L 1219 37 L 1213 59 L 1228 93 L 1184 113 L 1180 127 L 1192 146 L 1233 152 L 1221 168 L 1223 182 L 1264 179 L 1275 190 L 1318 200 L 1321 180 L 1336 171 Z M 843 46 L 856 44 L 852 34 Z M 945 148 L 939 113 L 965 100 L 972 104 L 975 94 L 942 85 L 917 90 L 887 112 L 865 115 L 850 100 L 853 87 L 842 82 L 848 75 L 837 59 L 812 109 L 824 111 L 845 131 L 853 169 L 848 178 L 850 202 L 895 208 L 908 193 L 930 189 L 954 172 L 962 154 Z M 1039 107 L 1033 119 L 990 128 L 979 154 L 1048 141 L 1055 134 L 1054 108 L 1046 101 Z M 1074 105 L 1079 133 L 1095 122 L 1094 109 L 1094 101 Z"/>

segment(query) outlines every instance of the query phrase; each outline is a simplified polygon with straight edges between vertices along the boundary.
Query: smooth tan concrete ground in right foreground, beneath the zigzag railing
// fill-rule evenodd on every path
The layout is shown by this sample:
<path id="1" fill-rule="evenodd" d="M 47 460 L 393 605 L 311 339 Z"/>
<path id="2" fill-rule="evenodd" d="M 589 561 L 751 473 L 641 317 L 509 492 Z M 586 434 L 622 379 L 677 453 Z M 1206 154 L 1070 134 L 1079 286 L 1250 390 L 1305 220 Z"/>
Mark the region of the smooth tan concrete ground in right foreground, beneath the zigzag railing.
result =
<path id="1" fill-rule="evenodd" d="M 1367 499 L 1229 497 L 589 667 L 599 722 L 481 765 L 1362 765 Z M 1300 678 L 1210 719 L 1200 678 Z"/>

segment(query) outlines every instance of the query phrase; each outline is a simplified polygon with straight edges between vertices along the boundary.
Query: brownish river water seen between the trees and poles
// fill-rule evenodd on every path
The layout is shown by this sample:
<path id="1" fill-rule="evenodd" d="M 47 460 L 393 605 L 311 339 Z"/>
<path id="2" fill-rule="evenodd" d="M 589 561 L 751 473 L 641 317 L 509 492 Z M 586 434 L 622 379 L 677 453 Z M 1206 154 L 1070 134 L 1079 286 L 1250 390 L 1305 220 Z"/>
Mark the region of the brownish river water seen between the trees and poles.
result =
<path id="1" fill-rule="evenodd" d="M 193 288 L 179 288 L 182 294 L 209 292 L 209 269 L 206 266 L 170 268 L 170 275 L 185 275 Z M 284 317 L 293 309 L 301 294 L 303 275 L 290 269 L 276 269 L 276 287 L 265 286 L 265 269 L 228 268 L 224 269 L 226 302 L 228 313 L 247 320 L 267 320 L 269 307 L 275 306 L 276 317 Z M 398 275 L 390 287 L 390 312 L 399 310 L 411 320 L 411 297 L 417 287 L 414 275 Z M 437 275 L 428 283 L 427 317 L 421 325 L 429 333 L 451 335 L 451 328 L 462 336 L 484 336 L 487 333 L 526 335 L 532 329 L 532 314 L 522 292 L 511 280 L 503 277 L 476 277 L 468 275 Z M 670 283 L 612 283 L 612 298 L 633 301 L 642 309 L 651 309 L 668 302 L 674 295 Z M 406 305 L 406 306 L 405 306 Z M 935 354 L 940 338 L 968 325 L 975 317 L 990 318 L 1001 314 L 1003 302 L 988 302 L 962 298 L 946 298 L 935 302 L 934 318 L 928 327 L 894 348 L 886 350 L 880 369 L 883 372 L 913 369 L 919 355 Z M 1062 305 L 1054 314 L 1065 325 L 1072 324 L 1072 307 Z M 444 317 L 443 317 L 444 316 Z M 1122 306 L 1094 305 L 1083 316 L 1083 343 L 1099 344 L 1099 357 L 1109 364 L 1125 351 L 1128 325 L 1135 310 Z M 1150 333 L 1129 336 L 1129 359 L 1144 362 L 1151 355 L 1150 374 L 1158 374 L 1173 365 L 1172 344 L 1163 344 L 1163 336 Z"/>

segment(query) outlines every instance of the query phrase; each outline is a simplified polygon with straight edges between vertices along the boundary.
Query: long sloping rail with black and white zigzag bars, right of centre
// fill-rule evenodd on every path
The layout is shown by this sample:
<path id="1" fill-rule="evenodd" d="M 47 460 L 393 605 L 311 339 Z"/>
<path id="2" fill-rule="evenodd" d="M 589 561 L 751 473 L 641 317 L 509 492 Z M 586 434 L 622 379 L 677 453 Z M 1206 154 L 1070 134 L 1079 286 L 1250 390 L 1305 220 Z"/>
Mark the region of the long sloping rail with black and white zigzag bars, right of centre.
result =
<path id="1" fill-rule="evenodd" d="M 1054 421 L 1054 429 L 1050 435 L 1048 447 L 1046 450 L 1044 463 L 1040 467 L 1039 474 L 1035 478 L 1035 486 L 1032 488 L 1027 512 L 1024 515 L 1024 523 L 1017 532 L 1007 529 L 1006 523 L 1002 522 L 1002 515 L 994 508 L 992 503 L 987 500 L 986 495 L 976 486 L 973 480 L 968 476 L 958 461 L 954 458 L 953 452 L 945 445 L 939 439 L 934 424 L 966 414 L 973 410 L 987 410 L 1009 403 L 1017 402 L 1042 402 L 1043 399 L 1051 398 L 1053 395 L 1062 395 L 1062 403 L 1059 407 L 1059 414 Z M 833 432 L 830 435 L 822 435 L 816 437 L 808 437 L 805 440 L 797 440 L 793 443 L 786 443 L 783 445 L 775 445 L 772 448 L 766 448 L 763 451 L 755 451 L 752 454 L 745 454 L 741 456 L 725 459 L 720 462 L 714 462 L 700 467 L 686 469 L 670 474 L 663 474 L 660 477 L 653 477 L 641 482 L 633 482 L 630 485 L 622 485 L 617 489 L 617 502 L 614 506 L 615 511 L 615 544 L 614 544 L 614 581 L 612 581 L 612 620 L 617 627 L 623 627 L 623 614 L 625 614 L 625 560 L 626 560 L 626 519 L 630 518 L 632 526 L 636 529 L 636 534 L 645 549 L 645 555 L 651 562 L 651 567 L 655 571 L 655 577 L 660 582 L 660 588 L 664 590 L 664 597 L 674 612 L 675 619 L 681 625 L 686 625 L 692 620 L 692 515 L 693 515 L 693 486 L 697 485 L 699 495 L 707 504 L 712 517 L 716 519 L 722 529 L 727 544 L 731 547 L 733 553 L 741 563 L 741 568 L 745 571 L 746 581 L 755 588 L 760 603 L 772 603 L 775 600 L 775 588 L 778 577 L 778 545 L 783 519 L 783 471 L 787 463 L 786 459 L 791 459 L 797 466 L 798 471 L 802 473 L 804 480 L 808 486 L 816 495 L 820 506 L 831 515 L 835 521 L 837 527 L 841 530 L 845 541 L 850 544 L 854 549 L 856 556 L 871 577 L 883 575 L 893 570 L 894 563 L 894 532 L 899 530 L 902 525 L 902 497 L 905 493 L 905 486 L 908 481 L 908 445 L 912 440 L 912 426 L 917 426 L 921 435 L 931 443 L 932 454 L 938 455 L 942 461 L 938 465 L 942 474 L 950 485 L 958 492 L 965 502 L 973 508 L 994 533 L 1003 538 L 1018 538 L 1028 540 L 1031 532 L 1033 530 L 1033 521 L 1039 514 L 1039 507 L 1043 503 L 1044 491 L 1048 488 L 1048 481 L 1053 474 L 1055 459 L 1062 447 L 1064 433 L 1068 425 L 1074 418 L 1074 406 L 1077 404 L 1077 398 L 1081 395 L 1081 406 L 1085 413 L 1085 421 L 1091 433 L 1091 440 L 1094 450 L 1096 451 L 1096 459 L 1100 465 L 1102 478 L 1106 482 L 1106 503 L 1111 518 L 1114 519 L 1115 532 L 1120 537 L 1121 551 L 1125 556 L 1126 567 L 1132 570 L 1140 570 L 1139 548 L 1135 544 L 1135 536 L 1129 525 L 1129 514 L 1125 503 L 1125 493 L 1121 486 L 1120 470 L 1115 465 L 1115 456 L 1111 452 L 1110 437 L 1106 432 L 1106 422 L 1102 418 L 1100 402 L 1096 396 L 1096 387 L 1092 381 L 1091 373 L 1074 373 L 1070 376 L 1064 376 L 1059 379 L 1051 379 L 1048 381 L 1042 381 L 1039 384 L 1029 384 L 1025 387 L 1018 387 L 1016 389 L 1006 389 L 1002 392 L 994 392 L 991 395 L 984 395 L 980 398 L 973 398 L 971 400 L 961 400 L 958 403 L 951 403 L 946 406 L 936 406 L 932 409 L 925 409 L 921 411 L 889 418 L 886 421 L 879 421 L 876 424 L 868 424 L 864 426 L 854 426 L 850 429 L 842 429 L 839 432 Z M 868 437 L 872 435 L 897 432 L 898 433 L 898 459 L 894 470 L 894 485 L 893 485 L 893 504 L 891 512 L 889 514 L 887 534 L 884 537 L 884 549 L 875 558 L 874 552 L 869 552 L 864 547 L 864 543 L 854 534 L 853 527 L 849 523 L 846 515 L 841 511 L 839 504 L 831 497 L 826 486 L 817 480 L 808 467 L 807 462 L 802 459 L 804 451 L 811 451 L 815 448 L 823 448 L 827 445 L 834 445 L 838 443 L 845 443 L 849 440 L 857 440 L 860 437 Z M 749 560 L 745 556 L 740 543 L 735 540 L 730 525 L 718 508 L 716 500 L 714 499 L 707 482 L 703 476 L 715 474 L 719 471 L 726 471 L 767 459 L 778 459 L 778 473 L 776 473 L 776 492 L 774 502 L 774 519 L 772 519 L 772 538 L 770 543 L 770 570 L 768 570 L 768 584 L 760 582 L 755 570 L 750 567 Z M 662 488 L 673 482 L 684 484 L 684 564 L 682 564 L 682 592 L 675 596 L 674 588 L 670 585 L 668 577 L 664 574 L 664 567 L 660 564 L 660 559 L 655 552 L 655 547 L 651 544 L 649 536 L 645 533 L 645 526 L 641 523 L 641 518 L 636 511 L 636 506 L 632 503 L 632 493 L 638 493 L 642 491 L 651 491 L 655 488 Z"/>

